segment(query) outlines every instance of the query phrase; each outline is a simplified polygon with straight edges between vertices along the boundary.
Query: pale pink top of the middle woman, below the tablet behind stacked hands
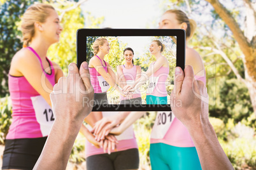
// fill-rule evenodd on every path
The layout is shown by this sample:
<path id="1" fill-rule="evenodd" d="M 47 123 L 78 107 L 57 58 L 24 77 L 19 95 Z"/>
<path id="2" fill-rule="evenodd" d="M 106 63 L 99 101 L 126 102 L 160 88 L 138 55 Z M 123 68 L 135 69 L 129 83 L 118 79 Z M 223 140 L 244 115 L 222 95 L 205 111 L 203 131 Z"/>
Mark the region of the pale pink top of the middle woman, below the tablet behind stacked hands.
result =
<path id="1" fill-rule="evenodd" d="M 113 114 L 118 114 L 118 112 L 103 112 L 103 117 L 105 116 L 107 117 Z M 125 130 L 124 133 L 120 134 L 119 136 L 116 136 L 116 138 L 118 140 L 118 143 L 117 143 L 117 151 L 115 152 L 131 149 L 131 148 L 138 148 L 136 137 L 134 135 L 132 126 L 127 128 L 127 130 Z M 103 148 L 94 147 L 94 145 L 92 145 L 92 143 L 90 143 L 88 140 L 86 140 L 85 142 L 85 148 L 86 148 L 85 157 L 89 157 L 91 155 L 106 154 L 104 153 Z M 114 151 L 111 150 L 111 152 L 114 152 Z"/>

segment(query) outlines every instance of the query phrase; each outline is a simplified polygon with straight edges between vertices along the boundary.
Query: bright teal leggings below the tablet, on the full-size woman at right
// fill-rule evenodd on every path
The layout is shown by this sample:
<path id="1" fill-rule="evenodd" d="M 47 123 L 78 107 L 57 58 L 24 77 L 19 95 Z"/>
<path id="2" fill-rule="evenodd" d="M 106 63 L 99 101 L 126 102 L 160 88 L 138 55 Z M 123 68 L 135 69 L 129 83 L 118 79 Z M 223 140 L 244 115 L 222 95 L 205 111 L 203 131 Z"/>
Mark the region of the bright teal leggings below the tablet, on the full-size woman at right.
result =
<path id="1" fill-rule="evenodd" d="M 165 143 L 150 144 L 152 170 L 202 169 L 196 147 L 173 147 Z"/>

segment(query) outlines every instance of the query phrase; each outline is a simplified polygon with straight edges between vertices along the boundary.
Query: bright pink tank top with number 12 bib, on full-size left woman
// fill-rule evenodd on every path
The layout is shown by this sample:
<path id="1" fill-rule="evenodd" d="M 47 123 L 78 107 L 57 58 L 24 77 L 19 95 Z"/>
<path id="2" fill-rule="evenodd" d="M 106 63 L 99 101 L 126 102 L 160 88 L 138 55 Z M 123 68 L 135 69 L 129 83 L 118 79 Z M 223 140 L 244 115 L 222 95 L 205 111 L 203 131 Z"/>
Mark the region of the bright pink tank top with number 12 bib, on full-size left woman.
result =
<path id="1" fill-rule="evenodd" d="M 51 74 L 47 74 L 43 69 L 41 58 L 36 51 L 31 47 L 22 50 L 27 49 L 32 51 L 38 58 L 42 73 L 45 74 L 46 79 L 54 86 L 55 72 L 52 62 L 46 57 L 51 67 Z M 15 77 L 9 74 L 8 78 L 13 119 L 6 139 L 41 138 L 48 136 L 54 121 L 53 112 L 48 103 L 46 103 L 43 97 L 29 84 L 24 76 Z"/>

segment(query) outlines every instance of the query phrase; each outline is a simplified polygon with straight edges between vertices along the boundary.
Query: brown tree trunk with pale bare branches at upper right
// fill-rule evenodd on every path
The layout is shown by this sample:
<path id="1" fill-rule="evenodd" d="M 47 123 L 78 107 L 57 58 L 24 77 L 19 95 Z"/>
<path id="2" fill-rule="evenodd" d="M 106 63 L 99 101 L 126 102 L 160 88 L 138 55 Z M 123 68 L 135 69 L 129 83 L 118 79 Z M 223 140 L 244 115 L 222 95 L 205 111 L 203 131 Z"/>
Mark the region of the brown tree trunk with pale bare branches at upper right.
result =
<path id="1" fill-rule="evenodd" d="M 234 39 L 236 39 L 239 44 L 239 48 L 243 52 L 242 57 L 245 66 L 245 79 L 241 77 L 236 67 L 220 49 L 218 43 L 213 41 L 217 48 L 215 51 L 222 55 L 234 74 L 236 74 L 236 77 L 238 77 L 239 81 L 246 84 L 250 93 L 254 114 L 256 115 L 256 3 L 252 3 L 250 0 L 244 0 L 246 20 L 245 30 L 243 32 L 234 16 L 232 16 L 227 8 L 225 8 L 218 0 L 206 1 L 213 6 L 220 18 L 222 18 L 222 20 L 224 20 L 228 25 L 229 29 L 231 29 Z"/>

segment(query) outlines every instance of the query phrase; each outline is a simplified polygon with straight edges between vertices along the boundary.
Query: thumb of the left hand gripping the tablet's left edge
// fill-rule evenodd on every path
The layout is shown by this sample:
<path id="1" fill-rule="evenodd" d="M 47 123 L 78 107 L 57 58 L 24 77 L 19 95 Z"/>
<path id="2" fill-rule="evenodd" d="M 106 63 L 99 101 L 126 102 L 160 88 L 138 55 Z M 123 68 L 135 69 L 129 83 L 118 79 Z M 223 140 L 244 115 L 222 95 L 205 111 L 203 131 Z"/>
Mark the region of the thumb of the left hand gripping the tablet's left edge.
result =
<path id="1" fill-rule="evenodd" d="M 92 84 L 90 84 L 90 72 L 88 68 L 88 63 L 83 62 L 80 66 L 80 77 L 83 80 L 83 84 L 85 85 L 86 90 L 92 88 Z"/>

